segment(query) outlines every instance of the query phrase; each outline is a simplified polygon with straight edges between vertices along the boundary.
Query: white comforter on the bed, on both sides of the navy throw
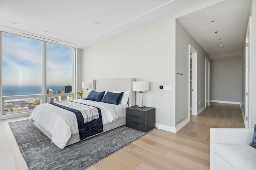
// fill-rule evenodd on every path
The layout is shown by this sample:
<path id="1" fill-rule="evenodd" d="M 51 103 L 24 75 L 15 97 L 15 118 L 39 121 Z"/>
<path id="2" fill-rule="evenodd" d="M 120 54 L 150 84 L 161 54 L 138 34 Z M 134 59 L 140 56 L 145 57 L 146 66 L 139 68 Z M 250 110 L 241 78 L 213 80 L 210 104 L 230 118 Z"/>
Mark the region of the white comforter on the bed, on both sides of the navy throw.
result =
<path id="1" fill-rule="evenodd" d="M 100 108 L 103 125 L 118 119 L 117 105 L 82 99 L 73 101 Z M 76 115 L 71 111 L 52 104 L 36 106 L 30 115 L 30 121 L 34 120 L 52 134 L 52 142 L 60 149 L 67 145 L 71 135 L 78 133 Z"/>

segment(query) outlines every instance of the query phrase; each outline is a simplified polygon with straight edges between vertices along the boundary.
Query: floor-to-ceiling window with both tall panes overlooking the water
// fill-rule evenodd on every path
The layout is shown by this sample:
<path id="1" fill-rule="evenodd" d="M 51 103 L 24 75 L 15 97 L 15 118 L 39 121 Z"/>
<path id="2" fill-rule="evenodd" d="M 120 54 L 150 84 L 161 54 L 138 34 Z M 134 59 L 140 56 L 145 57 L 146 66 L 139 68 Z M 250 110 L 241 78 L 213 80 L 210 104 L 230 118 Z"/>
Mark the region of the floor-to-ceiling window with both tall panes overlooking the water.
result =
<path id="1" fill-rule="evenodd" d="M 3 115 L 74 98 L 73 48 L 9 33 L 0 43 Z"/>

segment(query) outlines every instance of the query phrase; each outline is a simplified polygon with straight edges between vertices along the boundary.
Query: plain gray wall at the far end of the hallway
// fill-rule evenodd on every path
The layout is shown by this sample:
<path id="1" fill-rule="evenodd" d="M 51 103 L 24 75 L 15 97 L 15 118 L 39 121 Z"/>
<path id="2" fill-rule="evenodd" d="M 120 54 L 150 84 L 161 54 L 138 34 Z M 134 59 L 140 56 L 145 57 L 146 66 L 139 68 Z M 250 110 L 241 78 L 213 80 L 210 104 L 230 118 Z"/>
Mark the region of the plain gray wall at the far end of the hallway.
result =
<path id="1" fill-rule="evenodd" d="M 240 103 L 240 57 L 210 61 L 210 100 Z"/>

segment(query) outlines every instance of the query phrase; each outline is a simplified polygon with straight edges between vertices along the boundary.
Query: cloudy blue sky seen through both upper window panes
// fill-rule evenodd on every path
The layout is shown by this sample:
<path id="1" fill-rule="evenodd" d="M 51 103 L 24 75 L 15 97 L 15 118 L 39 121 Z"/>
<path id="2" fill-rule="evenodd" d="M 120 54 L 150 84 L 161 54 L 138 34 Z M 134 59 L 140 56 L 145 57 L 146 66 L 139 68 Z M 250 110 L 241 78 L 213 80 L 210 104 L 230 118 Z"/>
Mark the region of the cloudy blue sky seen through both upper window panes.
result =
<path id="1" fill-rule="evenodd" d="M 3 86 L 42 85 L 43 41 L 2 34 Z M 47 85 L 72 85 L 72 48 L 46 43 Z"/>

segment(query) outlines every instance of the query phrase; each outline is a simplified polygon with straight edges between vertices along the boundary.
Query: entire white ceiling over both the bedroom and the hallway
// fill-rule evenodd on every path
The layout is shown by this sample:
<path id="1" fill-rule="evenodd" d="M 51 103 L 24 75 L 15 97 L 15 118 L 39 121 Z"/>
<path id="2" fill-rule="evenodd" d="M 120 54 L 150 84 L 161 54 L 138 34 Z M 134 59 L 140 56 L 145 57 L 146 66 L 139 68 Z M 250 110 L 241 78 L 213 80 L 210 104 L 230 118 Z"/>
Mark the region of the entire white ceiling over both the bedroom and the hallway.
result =
<path id="1" fill-rule="evenodd" d="M 205 1 L 0 0 L 0 30 L 83 49 Z M 180 17 L 178 21 L 211 59 L 231 53 L 238 55 L 249 5 L 250 0 L 226 0 Z M 212 20 L 215 22 L 211 23 Z M 215 31 L 219 33 L 215 34 Z M 224 51 L 220 51 L 220 43 L 224 45 Z"/>

